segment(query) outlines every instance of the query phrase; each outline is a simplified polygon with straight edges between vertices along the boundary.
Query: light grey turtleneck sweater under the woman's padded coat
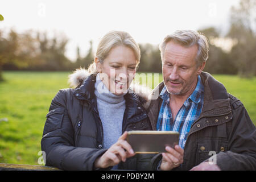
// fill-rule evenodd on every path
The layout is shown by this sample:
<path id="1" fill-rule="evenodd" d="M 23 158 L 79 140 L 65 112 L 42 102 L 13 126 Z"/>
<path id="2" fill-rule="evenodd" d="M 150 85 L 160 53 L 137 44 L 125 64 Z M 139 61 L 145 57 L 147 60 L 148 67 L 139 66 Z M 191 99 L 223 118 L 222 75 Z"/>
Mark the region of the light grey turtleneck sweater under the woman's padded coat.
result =
<path id="1" fill-rule="evenodd" d="M 100 79 L 96 77 L 94 94 L 97 97 L 97 108 L 104 131 L 103 147 L 110 148 L 122 135 L 123 113 L 125 113 L 125 98 L 111 93 Z"/>

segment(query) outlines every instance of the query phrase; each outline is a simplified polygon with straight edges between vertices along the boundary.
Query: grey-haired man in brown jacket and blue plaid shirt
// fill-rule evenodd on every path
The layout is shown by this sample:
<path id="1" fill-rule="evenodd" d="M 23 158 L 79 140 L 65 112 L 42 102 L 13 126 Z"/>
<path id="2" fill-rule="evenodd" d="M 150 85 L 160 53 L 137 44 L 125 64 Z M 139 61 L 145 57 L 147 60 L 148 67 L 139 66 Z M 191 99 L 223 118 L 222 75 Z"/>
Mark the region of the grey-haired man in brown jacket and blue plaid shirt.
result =
<path id="1" fill-rule="evenodd" d="M 153 130 L 179 131 L 180 139 L 152 159 L 153 169 L 256 170 L 256 130 L 245 107 L 203 72 L 207 38 L 176 31 L 159 48 L 163 82 L 148 117 Z"/>

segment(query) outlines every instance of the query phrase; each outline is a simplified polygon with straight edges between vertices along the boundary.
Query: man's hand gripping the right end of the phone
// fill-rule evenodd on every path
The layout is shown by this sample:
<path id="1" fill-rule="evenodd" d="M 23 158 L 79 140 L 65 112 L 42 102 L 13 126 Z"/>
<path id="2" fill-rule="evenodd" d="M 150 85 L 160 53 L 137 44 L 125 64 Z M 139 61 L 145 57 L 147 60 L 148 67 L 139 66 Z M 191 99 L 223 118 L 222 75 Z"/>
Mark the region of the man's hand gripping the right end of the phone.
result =
<path id="1" fill-rule="evenodd" d="M 166 151 L 162 153 L 162 163 L 160 169 L 163 171 L 171 170 L 183 163 L 183 149 L 176 145 L 174 148 L 166 147 Z"/>

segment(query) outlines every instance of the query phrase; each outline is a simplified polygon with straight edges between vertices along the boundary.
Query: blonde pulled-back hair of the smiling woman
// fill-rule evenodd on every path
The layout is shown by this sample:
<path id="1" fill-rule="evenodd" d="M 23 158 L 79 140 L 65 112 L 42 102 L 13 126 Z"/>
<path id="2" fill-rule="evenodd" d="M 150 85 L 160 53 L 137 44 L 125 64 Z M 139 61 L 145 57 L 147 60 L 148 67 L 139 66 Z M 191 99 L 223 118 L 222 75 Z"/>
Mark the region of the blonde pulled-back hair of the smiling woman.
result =
<path id="1" fill-rule="evenodd" d="M 103 63 L 111 49 L 115 46 L 126 46 L 131 48 L 137 59 L 137 65 L 139 64 L 139 60 L 141 59 L 141 49 L 133 37 L 124 31 L 110 31 L 101 38 L 96 51 L 96 57 L 100 60 L 100 63 Z M 97 73 L 96 64 L 94 62 L 89 65 L 88 72 Z"/>

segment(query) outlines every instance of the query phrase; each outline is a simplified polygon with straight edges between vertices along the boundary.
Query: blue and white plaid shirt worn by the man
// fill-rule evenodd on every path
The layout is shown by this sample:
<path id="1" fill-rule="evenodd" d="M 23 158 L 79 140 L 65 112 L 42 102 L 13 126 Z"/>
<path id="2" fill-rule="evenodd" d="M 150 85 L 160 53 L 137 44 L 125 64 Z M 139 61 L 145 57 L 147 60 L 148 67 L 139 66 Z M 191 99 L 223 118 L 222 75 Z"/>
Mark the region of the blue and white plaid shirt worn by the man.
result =
<path id="1" fill-rule="evenodd" d="M 180 133 L 179 146 L 184 149 L 191 125 L 199 118 L 204 105 L 204 85 L 201 78 L 198 76 L 195 90 L 181 106 L 175 120 L 172 117 L 170 94 L 167 92 L 166 86 L 164 86 L 159 96 L 163 102 L 160 107 L 156 130 L 178 131 Z"/>

